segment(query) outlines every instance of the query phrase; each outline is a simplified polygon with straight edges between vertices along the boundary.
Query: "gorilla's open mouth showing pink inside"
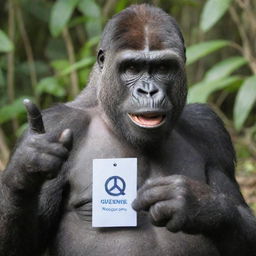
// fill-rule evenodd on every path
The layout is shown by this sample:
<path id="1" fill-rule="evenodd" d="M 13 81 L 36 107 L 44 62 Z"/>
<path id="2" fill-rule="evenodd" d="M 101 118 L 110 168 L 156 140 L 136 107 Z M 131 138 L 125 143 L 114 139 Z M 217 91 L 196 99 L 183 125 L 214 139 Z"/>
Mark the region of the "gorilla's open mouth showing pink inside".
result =
<path id="1" fill-rule="evenodd" d="M 165 121 L 165 115 L 159 113 L 128 114 L 136 125 L 143 128 L 156 128 Z"/>

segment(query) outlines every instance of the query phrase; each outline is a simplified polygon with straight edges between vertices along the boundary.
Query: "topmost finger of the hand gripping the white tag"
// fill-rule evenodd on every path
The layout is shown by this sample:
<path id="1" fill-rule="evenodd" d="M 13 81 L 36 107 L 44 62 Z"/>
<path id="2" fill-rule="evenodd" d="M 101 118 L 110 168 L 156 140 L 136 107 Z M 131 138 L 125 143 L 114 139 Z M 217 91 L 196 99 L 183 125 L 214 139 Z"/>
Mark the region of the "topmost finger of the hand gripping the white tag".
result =
<path id="1" fill-rule="evenodd" d="M 169 186 L 152 187 L 147 190 L 140 190 L 132 203 L 132 207 L 136 211 L 148 210 L 151 205 L 171 198 L 172 192 Z"/>

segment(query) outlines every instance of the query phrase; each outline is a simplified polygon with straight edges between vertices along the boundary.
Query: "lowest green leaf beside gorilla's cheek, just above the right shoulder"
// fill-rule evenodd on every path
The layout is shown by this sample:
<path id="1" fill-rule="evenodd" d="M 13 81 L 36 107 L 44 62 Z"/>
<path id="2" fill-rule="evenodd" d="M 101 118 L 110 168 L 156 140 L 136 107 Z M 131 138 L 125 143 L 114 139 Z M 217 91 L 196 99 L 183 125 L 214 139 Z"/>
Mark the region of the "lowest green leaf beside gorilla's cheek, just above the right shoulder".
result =
<path id="1" fill-rule="evenodd" d="M 202 81 L 198 84 L 193 85 L 188 92 L 188 102 L 201 102 L 205 103 L 211 93 L 234 86 L 236 83 L 242 83 L 242 79 L 239 76 L 231 76 L 214 81 Z"/>

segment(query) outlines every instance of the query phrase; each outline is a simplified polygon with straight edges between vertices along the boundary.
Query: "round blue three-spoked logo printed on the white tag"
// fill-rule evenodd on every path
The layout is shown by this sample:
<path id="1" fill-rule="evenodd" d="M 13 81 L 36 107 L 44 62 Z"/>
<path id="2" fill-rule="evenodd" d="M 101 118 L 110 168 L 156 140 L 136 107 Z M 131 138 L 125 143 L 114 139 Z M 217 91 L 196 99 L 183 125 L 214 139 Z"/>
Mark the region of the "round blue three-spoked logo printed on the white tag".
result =
<path id="1" fill-rule="evenodd" d="M 125 195 L 125 188 L 125 181 L 119 176 L 111 176 L 105 182 L 105 191 L 111 196 Z"/>

